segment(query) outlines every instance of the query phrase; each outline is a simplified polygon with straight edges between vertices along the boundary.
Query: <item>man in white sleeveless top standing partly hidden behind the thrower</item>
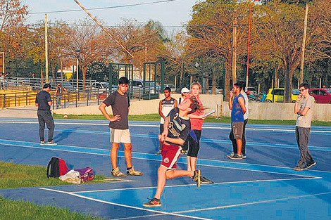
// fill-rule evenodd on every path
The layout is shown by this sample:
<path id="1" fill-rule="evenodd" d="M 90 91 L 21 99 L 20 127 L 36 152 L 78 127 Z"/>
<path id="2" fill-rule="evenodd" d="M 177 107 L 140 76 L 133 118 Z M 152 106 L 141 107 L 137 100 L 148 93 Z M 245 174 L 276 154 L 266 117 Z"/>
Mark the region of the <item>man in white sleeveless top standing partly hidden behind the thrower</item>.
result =
<path id="1" fill-rule="evenodd" d="M 165 98 L 161 100 L 160 103 L 158 103 L 158 115 L 161 116 L 160 134 L 163 133 L 163 124 L 165 117 L 167 117 L 167 115 L 171 110 L 173 110 L 173 108 L 177 107 L 177 100 L 171 97 L 171 89 L 169 87 L 165 87 L 163 93 Z M 161 150 L 162 150 L 162 143 L 160 142 L 158 152 L 155 153 L 155 155 L 161 155 Z"/>

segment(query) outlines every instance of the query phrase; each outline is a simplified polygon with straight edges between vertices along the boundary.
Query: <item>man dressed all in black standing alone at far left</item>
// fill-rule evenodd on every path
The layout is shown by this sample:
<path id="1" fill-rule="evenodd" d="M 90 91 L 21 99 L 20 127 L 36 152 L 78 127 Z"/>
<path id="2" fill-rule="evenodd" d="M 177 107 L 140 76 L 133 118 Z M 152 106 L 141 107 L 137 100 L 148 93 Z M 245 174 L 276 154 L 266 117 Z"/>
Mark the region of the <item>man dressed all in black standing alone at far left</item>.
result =
<path id="1" fill-rule="evenodd" d="M 51 91 L 50 84 L 44 84 L 44 87 L 41 92 L 37 93 L 36 96 L 36 106 L 38 107 L 37 115 L 39 122 L 39 137 L 40 137 L 40 145 L 56 145 L 53 141 L 54 135 L 54 120 L 51 116 L 51 95 L 49 94 Z M 45 142 L 44 130 L 45 123 L 47 128 L 49 129 L 49 139 Z"/>

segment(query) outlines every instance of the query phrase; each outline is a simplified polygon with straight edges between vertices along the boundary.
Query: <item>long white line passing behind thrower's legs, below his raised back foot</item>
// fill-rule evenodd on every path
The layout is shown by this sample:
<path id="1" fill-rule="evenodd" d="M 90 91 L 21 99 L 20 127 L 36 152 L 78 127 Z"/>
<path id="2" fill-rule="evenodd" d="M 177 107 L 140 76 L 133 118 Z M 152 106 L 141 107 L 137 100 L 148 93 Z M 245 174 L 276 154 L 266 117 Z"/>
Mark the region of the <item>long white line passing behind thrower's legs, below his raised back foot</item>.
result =
<path id="1" fill-rule="evenodd" d="M 231 181 L 231 182 L 220 182 L 214 184 L 203 184 L 203 186 L 215 186 L 215 185 L 226 185 L 226 184 L 240 184 L 240 183 L 263 183 L 263 182 L 275 182 L 275 181 L 291 181 L 291 180 L 311 180 L 311 179 L 322 179 L 322 177 L 311 177 L 311 178 L 292 178 L 292 179 L 260 179 L 260 180 L 252 180 L 252 181 Z M 181 184 L 181 185 L 170 185 L 165 186 L 165 188 L 177 188 L 183 186 L 196 186 L 196 183 L 192 184 Z M 99 192 L 112 192 L 112 191 L 124 191 L 124 190 L 144 190 L 157 188 L 157 186 L 146 186 L 146 187 L 132 187 L 132 188 L 111 188 L 105 190 L 85 190 L 85 191 L 73 191 L 68 193 L 99 193 Z"/>

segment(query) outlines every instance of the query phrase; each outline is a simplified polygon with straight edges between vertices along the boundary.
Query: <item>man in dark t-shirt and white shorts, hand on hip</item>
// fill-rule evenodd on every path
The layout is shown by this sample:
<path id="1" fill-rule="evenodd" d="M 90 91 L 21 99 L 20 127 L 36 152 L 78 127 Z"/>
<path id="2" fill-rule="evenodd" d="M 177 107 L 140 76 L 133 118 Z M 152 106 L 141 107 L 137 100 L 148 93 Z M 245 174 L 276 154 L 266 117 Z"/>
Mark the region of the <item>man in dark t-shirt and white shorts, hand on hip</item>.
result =
<path id="1" fill-rule="evenodd" d="M 130 100 L 127 96 L 127 89 L 129 88 L 129 80 L 127 77 L 120 77 L 118 79 L 118 90 L 111 93 L 106 100 L 101 103 L 99 110 L 102 115 L 110 122 L 111 129 L 111 167 L 113 168 L 111 174 L 113 176 L 124 177 L 125 174 L 120 172 L 117 166 L 117 153 L 120 143 L 124 145 L 124 156 L 127 164 L 127 175 L 142 176 L 142 172 L 134 169 L 131 163 L 131 138 L 129 130 L 129 122 L 127 115 L 130 109 Z M 106 111 L 106 107 L 111 105 L 113 110 L 113 117 L 110 117 Z"/>

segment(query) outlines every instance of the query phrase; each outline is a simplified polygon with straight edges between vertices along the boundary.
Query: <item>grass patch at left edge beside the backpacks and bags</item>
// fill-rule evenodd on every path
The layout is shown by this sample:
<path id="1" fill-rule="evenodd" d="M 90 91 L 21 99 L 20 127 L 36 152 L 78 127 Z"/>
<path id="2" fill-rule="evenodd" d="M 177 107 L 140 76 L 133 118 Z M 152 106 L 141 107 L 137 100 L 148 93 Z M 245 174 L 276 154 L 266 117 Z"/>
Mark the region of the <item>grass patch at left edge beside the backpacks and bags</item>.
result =
<path id="1" fill-rule="evenodd" d="M 92 181 L 87 181 L 87 183 L 84 184 L 104 183 L 105 179 L 110 178 L 96 175 Z M 63 182 L 60 179 L 47 178 L 46 167 L 0 162 L 0 189 L 38 186 L 63 186 L 72 184 L 73 183 Z"/>

